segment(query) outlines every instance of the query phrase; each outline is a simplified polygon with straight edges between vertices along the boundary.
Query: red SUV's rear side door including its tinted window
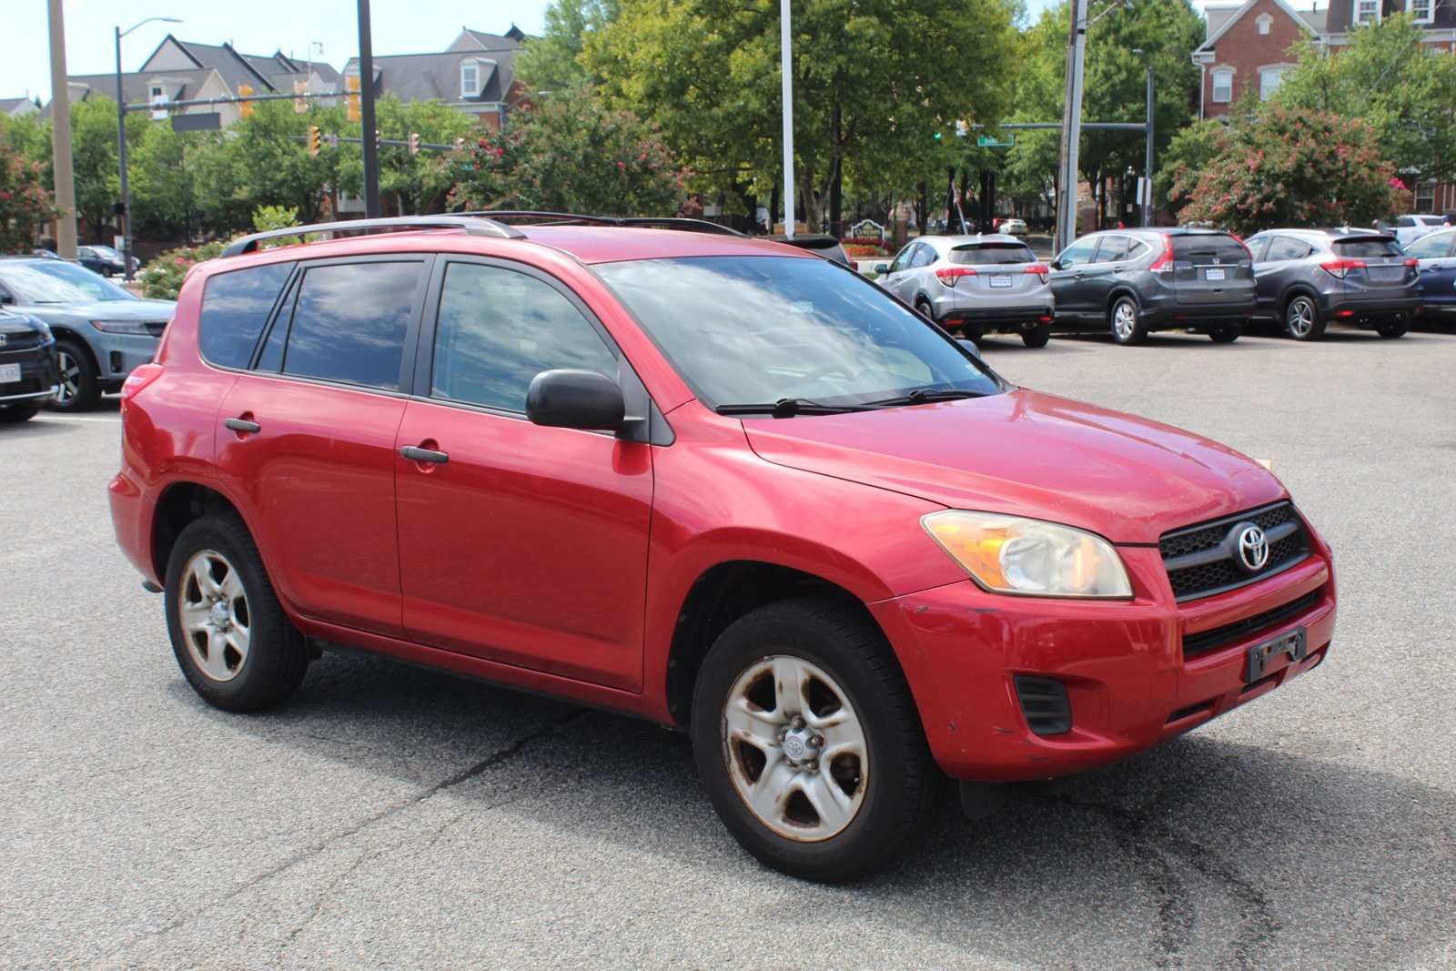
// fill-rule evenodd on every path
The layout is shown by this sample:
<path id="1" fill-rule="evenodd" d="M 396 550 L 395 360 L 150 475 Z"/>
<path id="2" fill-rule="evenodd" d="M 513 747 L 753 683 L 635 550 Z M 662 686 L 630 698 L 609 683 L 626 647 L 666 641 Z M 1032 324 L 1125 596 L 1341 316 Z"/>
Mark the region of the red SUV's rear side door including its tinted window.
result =
<path id="1" fill-rule="evenodd" d="M 396 638 L 395 438 L 430 263 L 301 265 L 215 431 L 223 482 L 284 600 L 313 620 Z M 214 277 L 204 303 L 233 275 Z"/>

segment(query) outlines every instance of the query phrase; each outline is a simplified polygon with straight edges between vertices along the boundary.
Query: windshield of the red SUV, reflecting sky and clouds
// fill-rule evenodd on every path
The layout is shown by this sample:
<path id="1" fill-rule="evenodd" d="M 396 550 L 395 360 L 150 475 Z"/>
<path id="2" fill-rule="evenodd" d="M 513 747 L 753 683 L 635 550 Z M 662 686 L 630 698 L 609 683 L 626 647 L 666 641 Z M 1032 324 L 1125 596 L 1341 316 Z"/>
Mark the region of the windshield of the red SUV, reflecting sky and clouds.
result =
<path id="1" fill-rule="evenodd" d="M 885 406 L 926 400 L 923 392 L 1002 390 L 952 338 L 821 259 L 699 256 L 596 271 L 709 408 Z M 922 395 L 893 400 L 910 392 Z"/>

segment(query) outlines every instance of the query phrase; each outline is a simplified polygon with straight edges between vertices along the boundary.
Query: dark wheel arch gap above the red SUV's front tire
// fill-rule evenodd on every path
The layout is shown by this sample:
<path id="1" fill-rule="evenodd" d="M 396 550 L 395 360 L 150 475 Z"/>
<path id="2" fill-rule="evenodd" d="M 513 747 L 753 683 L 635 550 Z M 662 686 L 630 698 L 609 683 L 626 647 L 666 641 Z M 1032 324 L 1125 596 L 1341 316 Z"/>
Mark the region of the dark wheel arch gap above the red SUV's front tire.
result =
<path id="1" fill-rule="evenodd" d="M 692 724 L 697 671 L 718 635 L 751 610 L 804 597 L 850 607 L 885 633 L 853 592 L 814 574 L 761 560 L 721 562 L 699 574 L 678 611 L 668 648 L 665 691 L 673 724 L 678 728 Z M 895 664 L 898 665 L 898 659 Z"/>

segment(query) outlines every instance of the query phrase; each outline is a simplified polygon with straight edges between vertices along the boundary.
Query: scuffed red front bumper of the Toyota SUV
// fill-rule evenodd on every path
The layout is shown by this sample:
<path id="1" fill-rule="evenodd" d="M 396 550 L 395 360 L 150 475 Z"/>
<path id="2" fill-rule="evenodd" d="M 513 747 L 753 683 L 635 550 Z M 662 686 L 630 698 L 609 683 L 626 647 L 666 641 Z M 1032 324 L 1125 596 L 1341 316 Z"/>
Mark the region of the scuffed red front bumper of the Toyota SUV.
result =
<path id="1" fill-rule="evenodd" d="M 1158 550 L 1128 547 L 1120 552 L 1139 591 L 1131 603 L 1003 597 L 965 581 L 874 609 L 949 776 L 1048 779 L 1137 754 L 1324 661 L 1335 584 L 1328 549 L 1315 547 L 1283 574 L 1184 604 L 1172 601 Z M 1273 620 L 1241 629 L 1251 617 Z M 1277 652 L 1251 671 L 1251 648 L 1299 627 L 1300 659 Z M 1184 655 L 1185 635 L 1220 630 L 1230 633 Z M 1067 731 L 1047 734 L 1025 700 L 1028 684 L 1048 681 L 1064 690 Z"/>

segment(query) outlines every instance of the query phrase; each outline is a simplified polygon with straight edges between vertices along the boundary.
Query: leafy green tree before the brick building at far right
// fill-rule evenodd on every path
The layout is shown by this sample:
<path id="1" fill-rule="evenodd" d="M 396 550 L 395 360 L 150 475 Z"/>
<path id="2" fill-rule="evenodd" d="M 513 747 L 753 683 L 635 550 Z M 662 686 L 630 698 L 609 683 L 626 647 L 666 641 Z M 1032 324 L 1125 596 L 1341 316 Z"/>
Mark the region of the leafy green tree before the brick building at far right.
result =
<path id="1" fill-rule="evenodd" d="M 1274 103 L 1286 109 L 1358 116 L 1376 130 L 1395 167 L 1421 179 L 1456 178 L 1456 58 L 1421 44 L 1409 15 L 1350 32 L 1329 54 L 1315 39 L 1299 45 Z"/>

